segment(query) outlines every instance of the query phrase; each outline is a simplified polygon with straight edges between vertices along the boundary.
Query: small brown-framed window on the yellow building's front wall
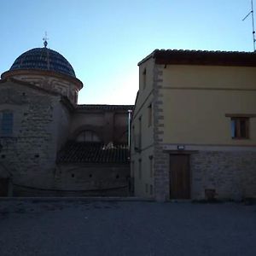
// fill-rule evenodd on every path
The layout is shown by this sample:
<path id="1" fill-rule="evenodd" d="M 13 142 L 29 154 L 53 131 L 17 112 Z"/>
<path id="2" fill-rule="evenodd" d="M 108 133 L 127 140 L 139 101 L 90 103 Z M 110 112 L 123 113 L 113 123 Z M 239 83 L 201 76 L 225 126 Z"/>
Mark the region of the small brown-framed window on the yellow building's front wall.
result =
<path id="1" fill-rule="evenodd" d="M 249 118 L 231 118 L 231 137 L 235 139 L 249 138 Z"/>

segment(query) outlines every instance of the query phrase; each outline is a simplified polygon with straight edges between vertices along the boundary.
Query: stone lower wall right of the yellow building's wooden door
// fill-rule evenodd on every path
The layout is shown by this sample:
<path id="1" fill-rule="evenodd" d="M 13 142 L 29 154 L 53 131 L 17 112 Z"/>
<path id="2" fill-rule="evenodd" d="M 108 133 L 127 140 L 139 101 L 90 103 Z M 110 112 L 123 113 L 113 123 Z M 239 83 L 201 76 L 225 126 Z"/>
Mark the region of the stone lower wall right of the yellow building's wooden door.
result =
<path id="1" fill-rule="evenodd" d="M 199 151 L 190 156 L 191 197 L 239 201 L 256 195 L 256 152 Z"/>

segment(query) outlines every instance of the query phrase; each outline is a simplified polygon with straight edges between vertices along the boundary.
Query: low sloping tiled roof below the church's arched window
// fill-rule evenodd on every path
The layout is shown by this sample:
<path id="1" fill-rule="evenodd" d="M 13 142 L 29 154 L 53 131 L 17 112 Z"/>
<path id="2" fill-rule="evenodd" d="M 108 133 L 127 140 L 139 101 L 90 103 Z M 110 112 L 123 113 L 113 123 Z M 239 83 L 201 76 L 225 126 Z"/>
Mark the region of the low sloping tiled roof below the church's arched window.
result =
<path id="1" fill-rule="evenodd" d="M 58 155 L 59 163 L 117 163 L 129 162 L 127 145 L 69 142 Z"/>

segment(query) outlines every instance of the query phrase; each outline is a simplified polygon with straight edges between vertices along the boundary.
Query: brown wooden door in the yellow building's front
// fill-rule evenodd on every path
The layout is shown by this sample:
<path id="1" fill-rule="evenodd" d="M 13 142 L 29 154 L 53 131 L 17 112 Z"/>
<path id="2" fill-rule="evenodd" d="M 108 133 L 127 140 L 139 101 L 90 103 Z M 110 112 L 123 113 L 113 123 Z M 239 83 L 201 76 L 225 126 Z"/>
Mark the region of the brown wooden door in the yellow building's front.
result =
<path id="1" fill-rule="evenodd" d="M 190 198 L 189 154 L 170 155 L 170 198 Z"/>

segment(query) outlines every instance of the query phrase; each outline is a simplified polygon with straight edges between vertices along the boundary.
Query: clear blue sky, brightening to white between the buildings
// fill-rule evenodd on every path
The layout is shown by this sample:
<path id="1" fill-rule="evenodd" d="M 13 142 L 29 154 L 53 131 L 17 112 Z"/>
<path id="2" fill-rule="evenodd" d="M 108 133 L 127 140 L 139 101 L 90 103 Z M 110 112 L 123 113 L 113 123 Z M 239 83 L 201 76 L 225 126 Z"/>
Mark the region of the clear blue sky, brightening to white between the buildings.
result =
<path id="1" fill-rule="evenodd" d="M 255 11 L 256 11 L 256 1 Z M 134 104 L 154 49 L 253 51 L 250 0 L 0 0 L 0 73 L 28 49 L 64 55 L 81 104 Z"/>

